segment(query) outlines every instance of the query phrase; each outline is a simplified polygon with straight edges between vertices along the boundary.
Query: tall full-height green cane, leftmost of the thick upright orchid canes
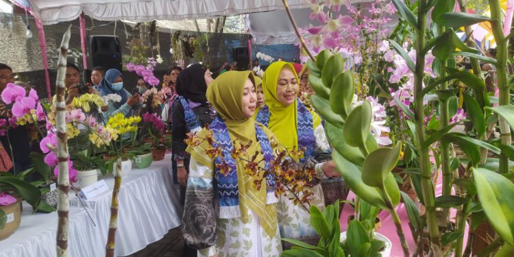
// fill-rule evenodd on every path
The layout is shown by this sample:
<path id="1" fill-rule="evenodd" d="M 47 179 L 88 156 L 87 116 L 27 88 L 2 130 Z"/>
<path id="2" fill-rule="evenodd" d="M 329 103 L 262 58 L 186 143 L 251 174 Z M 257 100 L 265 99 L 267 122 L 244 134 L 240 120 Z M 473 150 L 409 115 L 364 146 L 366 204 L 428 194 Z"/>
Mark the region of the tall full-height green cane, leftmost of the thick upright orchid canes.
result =
<path id="1" fill-rule="evenodd" d="M 426 0 L 418 1 L 418 10 L 424 10 Z M 416 69 L 414 73 L 414 95 L 415 116 L 416 116 L 416 137 L 417 151 L 419 153 L 419 164 L 421 168 L 421 191 L 423 192 L 424 204 L 426 207 L 426 222 L 430 238 L 430 246 L 435 256 L 441 256 L 441 244 L 439 242 L 439 226 L 435 212 L 435 192 L 432 180 L 430 179 L 430 159 L 428 147 L 422 146 L 426 140 L 424 125 L 423 97 L 419 97 L 419 92 L 423 89 L 423 77 L 425 69 L 425 55 L 421 50 L 425 47 L 426 31 L 426 12 L 417 14 L 416 32 Z"/>

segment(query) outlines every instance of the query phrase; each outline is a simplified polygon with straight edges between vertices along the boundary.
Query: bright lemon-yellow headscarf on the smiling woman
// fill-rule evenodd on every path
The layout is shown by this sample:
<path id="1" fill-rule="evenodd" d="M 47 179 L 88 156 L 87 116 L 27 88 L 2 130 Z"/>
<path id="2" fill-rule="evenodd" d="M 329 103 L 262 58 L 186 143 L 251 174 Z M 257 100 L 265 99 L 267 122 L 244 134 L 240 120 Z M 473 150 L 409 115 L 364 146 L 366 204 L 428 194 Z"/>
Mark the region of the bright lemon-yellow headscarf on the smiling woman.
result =
<path id="1" fill-rule="evenodd" d="M 273 62 L 266 69 L 264 77 L 262 77 L 262 89 L 264 90 L 264 102 L 268 106 L 270 113 L 268 127 L 277 137 L 278 143 L 284 145 L 287 149 L 297 149 L 298 100 L 295 99 L 289 106 L 284 106 L 278 101 L 277 82 L 282 69 L 290 69 L 295 74 L 296 81 L 299 82 L 295 68 L 289 62 Z M 310 111 L 310 114 L 313 115 L 313 129 L 315 129 L 321 123 L 321 119 L 313 111 Z"/>

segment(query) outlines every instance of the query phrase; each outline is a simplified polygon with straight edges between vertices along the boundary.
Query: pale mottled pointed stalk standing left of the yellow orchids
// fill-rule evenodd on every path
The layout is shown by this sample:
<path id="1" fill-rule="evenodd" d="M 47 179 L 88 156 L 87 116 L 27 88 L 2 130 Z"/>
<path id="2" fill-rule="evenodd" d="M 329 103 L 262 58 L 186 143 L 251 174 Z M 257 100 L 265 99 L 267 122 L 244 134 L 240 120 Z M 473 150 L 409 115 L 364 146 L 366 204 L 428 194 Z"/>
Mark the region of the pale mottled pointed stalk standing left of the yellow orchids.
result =
<path id="1" fill-rule="evenodd" d="M 57 213 L 59 221 L 57 224 L 57 256 L 68 256 L 68 230 L 69 220 L 68 212 L 70 208 L 69 201 L 69 188 L 70 179 L 68 171 L 68 140 L 66 138 L 66 102 L 64 98 L 65 86 L 64 75 L 66 74 L 66 55 L 68 54 L 68 45 L 70 40 L 71 25 L 68 27 L 60 47 L 57 82 L 56 82 L 56 101 L 53 103 L 56 106 L 56 130 L 57 130 L 57 159 L 59 166 L 58 177 L 58 206 Z"/>

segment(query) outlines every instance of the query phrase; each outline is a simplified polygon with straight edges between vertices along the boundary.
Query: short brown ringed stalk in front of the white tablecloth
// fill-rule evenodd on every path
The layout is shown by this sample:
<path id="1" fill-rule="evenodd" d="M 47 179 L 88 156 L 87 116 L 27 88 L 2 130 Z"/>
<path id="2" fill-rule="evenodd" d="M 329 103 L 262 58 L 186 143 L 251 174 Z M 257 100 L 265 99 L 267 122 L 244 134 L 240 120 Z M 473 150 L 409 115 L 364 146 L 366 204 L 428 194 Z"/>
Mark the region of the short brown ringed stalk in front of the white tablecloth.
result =
<path id="1" fill-rule="evenodd" d="M 116 230 L 118 227 L 118 195 L 121 188 L 121 158 L 116 162 L 114 171 L 114 188 L 112 189 L 112 199 L 110 204 L 109 232 L 107 235 L 106 257 L 114 256 L 114 243 L 116 241 Z"/>

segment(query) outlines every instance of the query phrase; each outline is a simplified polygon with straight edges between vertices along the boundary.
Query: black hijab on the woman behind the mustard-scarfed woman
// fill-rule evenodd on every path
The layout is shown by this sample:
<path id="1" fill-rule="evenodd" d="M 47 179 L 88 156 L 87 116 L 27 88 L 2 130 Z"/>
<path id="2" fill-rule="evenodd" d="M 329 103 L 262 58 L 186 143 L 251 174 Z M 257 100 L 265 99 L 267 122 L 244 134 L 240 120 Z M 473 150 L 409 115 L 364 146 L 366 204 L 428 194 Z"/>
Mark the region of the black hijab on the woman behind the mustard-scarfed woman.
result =
<path id="1" fill-rule="evenodd" d="M 177 94 L 195 103 L 207 102 L 205 72 L 206 69 L 201 64 L 193 64 L 181 71 L 178 74 L 175 87 Z"/>

